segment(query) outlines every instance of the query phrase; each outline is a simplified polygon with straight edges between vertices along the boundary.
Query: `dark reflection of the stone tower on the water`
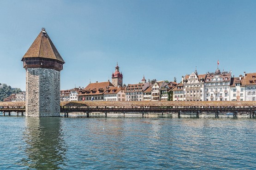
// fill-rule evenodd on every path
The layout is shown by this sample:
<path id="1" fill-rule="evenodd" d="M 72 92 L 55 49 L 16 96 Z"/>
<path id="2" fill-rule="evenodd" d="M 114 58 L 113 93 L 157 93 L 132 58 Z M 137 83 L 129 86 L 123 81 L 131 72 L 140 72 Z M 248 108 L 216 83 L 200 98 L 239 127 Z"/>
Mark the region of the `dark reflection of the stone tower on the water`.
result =
<path id="1" fill-rule="evenodd" d="M 26 118 L 23 140 L 26 142 L 25 166 L 32 169 L 61 169 L 65 142 L 61 118 Z"/>

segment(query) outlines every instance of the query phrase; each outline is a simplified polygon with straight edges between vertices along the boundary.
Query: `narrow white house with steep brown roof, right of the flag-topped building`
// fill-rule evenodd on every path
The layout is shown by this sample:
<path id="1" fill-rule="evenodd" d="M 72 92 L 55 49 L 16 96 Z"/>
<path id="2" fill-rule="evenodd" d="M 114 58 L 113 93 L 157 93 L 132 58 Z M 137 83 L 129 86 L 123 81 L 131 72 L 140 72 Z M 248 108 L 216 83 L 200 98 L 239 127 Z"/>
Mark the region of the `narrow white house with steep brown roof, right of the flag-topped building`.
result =
<path id="1" fill-rule="evenodd" d="M 245 101 L 244 77 L 232 77 L 229 90 L 230 101 Z"/>

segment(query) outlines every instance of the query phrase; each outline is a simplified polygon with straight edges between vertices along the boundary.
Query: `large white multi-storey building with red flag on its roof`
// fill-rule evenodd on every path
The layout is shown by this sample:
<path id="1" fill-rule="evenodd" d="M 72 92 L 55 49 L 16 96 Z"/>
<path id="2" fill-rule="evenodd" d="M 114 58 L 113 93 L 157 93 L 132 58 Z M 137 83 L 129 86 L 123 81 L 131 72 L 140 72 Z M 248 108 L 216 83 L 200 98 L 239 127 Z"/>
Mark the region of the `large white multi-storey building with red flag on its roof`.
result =
<path id="1" fill-rule="evenodd" d="M 230 100 L 231 71 L 207 73 L 204 82 L 204 101 L 229 101 Z"/>

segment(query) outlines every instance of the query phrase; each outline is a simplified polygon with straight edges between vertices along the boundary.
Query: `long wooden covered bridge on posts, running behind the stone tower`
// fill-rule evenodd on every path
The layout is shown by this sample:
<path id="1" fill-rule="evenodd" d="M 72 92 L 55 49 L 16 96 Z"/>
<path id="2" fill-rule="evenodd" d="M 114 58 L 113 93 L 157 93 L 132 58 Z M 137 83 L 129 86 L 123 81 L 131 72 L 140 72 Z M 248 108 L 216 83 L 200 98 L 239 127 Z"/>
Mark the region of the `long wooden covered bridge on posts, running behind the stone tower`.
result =
<path id="1" fill-rule="evenodd" d="M 0 102 L 0 112 L 3 114 L 25 112 L 25 102 Z M 60 102 L 60 112 L 64 115 L 72 112 L 89 113 L 212 113 L 219 116 L 220 113 L 248 113 L 251 116 L 256 114 L 256 101 L 246 102 L 169 102 L 169 101 L 143 101 L 143 102 Z"/>

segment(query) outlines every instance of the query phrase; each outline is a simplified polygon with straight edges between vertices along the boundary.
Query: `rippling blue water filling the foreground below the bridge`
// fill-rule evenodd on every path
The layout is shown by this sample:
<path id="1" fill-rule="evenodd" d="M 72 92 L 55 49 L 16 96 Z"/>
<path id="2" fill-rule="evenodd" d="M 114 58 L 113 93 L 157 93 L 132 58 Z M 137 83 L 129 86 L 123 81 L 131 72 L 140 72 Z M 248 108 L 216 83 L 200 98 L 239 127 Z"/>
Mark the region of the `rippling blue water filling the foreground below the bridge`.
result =
<path id="1" fill-rule="evenodd" d="M 0 117 L 0 169 L 256 169 L 256 119 Z"/>

